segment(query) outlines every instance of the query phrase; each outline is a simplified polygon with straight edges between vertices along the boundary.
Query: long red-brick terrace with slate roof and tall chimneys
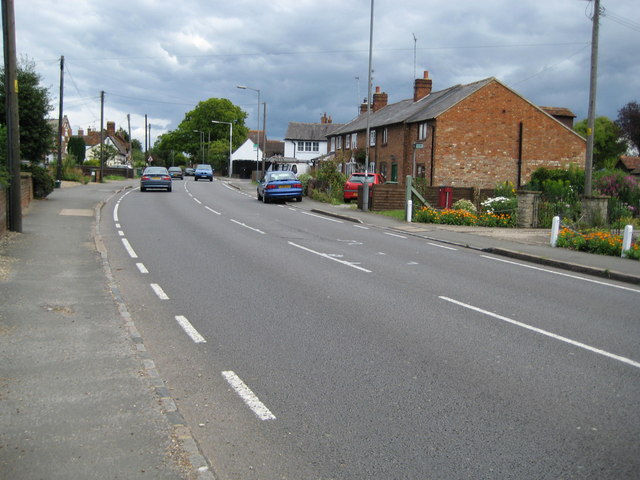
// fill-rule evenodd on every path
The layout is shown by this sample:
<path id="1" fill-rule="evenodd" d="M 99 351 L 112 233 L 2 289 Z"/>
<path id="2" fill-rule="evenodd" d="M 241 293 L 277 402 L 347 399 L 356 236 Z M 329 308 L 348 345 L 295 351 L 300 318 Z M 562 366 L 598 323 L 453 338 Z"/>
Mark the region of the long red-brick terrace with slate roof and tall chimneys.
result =
<path id="1" fill-rule="evenodd" d="M 527 183 L 539 167 L 583 164 L 586 141 L 564 108 L 538 107 L 495 78 L 432 92 L 428 72 L 413 98 L 388 104 L 376 87 L 371 105 L 370 171 L 403 184 L 407 175 L 428 185 L 493 188 Z M 328 136 L 346 166 L 363 170 L 367 105 Z M 349 173 L 345 171 L 345 173 Z"/>

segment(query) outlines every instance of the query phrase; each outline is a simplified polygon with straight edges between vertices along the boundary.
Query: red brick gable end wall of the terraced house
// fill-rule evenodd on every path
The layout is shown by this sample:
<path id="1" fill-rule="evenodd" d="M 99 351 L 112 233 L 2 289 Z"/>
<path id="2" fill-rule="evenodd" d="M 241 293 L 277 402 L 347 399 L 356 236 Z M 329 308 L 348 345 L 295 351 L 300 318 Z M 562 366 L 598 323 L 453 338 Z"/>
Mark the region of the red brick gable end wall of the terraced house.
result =
<path id="1" fill-rule="evenodd" d="M 584 164 L 584 139 L 492 82 L 438 117 L 433 184 L 482 188 L 504 181 L 515 184 L 521 122 L 522 184 L 539 167 Z"/>

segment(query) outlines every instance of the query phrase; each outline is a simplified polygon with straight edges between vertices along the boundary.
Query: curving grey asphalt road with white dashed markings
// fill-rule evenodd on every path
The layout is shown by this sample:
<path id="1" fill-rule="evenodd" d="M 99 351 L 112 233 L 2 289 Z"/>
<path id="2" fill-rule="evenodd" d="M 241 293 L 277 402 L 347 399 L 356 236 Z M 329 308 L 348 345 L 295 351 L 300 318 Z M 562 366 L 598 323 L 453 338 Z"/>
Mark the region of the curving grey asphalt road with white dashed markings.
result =
<path id="1" fill-rule="evenodd" d="M 639 289 L 302 205 L 185 180 L 102 211 L 218 478 L 640 478 Z"/>

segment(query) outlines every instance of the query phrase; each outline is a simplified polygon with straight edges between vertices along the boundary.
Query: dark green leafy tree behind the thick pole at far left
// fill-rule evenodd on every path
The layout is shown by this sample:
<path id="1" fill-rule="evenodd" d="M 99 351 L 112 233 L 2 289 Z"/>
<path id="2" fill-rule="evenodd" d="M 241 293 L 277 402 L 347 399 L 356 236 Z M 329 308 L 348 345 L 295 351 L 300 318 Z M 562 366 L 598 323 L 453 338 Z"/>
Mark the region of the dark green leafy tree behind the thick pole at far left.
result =
<path id="1" fill-rule="evenodd" d="M 0 123 L 6 125 L 4 68 L 0 70 Z M 41 161 L 51 151 L 54 132 L 47 122 L 53 110 L 49 90 L 40 86 L 35 63 L 22 59 L 18 66 L 18 110 L 20 116 L 20 158 Z"/>

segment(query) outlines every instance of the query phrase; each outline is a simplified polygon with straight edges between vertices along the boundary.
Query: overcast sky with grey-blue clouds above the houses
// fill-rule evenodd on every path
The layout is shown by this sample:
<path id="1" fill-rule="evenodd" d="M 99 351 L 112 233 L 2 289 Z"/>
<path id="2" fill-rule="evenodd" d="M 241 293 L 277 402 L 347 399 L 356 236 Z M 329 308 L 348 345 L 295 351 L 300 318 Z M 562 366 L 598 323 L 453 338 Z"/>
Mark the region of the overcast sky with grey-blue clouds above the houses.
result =
<path id="1" fill-rule="evenodd" d="M 597 114 L 640 102 L 637 0 L 602 0 Z M 373 80 L 389 103 L 413 96 L 428 70 L 434 91 L 496 77 L 536 105 L 586 118 L 591 15 L 586 0 L 375 0 Z M 35 61 L 58 116 L 60 57 L 64 113 L 74 133 L 114 121 L 144 146 L 175 129 L 198 102 L 228 98 L 267 136 L 289 122 L 334 123 L 367 95 L 370 0 L 15 0 L 18 56 Z M 414 41 L 414 36 L 416 41 Z M 414 48 L 415 47 L 415 48 Z M 415 62 L 414 62 L 415 52 Z M 261 113 L 262 114 L 262 113 Z"/>

